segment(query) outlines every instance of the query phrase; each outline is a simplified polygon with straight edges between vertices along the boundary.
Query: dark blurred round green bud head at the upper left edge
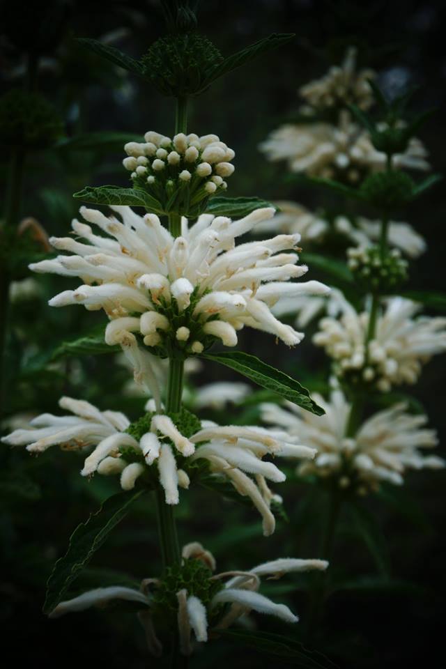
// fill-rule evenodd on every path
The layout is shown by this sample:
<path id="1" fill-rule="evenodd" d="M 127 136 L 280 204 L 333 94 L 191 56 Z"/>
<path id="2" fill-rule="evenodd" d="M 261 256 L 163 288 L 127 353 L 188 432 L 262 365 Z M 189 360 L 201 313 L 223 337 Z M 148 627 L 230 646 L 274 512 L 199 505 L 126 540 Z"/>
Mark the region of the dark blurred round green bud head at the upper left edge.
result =
<path id="1" fill-rule="evenodd" d="M 37 93 L 21 89 L 0 98 L 0 146 L 16 151 L 49 148 L 63 132 L 55 109 Z"/>

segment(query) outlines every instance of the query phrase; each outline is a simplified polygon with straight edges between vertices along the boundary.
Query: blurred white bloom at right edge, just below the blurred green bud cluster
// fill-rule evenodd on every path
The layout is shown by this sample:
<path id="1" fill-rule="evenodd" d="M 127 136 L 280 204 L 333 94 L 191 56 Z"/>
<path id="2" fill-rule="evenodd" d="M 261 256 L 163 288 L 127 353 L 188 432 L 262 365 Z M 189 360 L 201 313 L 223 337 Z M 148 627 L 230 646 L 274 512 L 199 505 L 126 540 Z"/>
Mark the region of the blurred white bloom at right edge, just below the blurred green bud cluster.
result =
<path id="1" fill-rule="evenodd" d="M 369 314 L 357 314 L 344 300 L 339 319 L 323 318 L 313 341 L 335 362 L 337 376 L 354 374 L 387 392 L 392 385 L 415 383 L 422 363 L 446 351 L 446 318 L 414 316 L 420 310 L 411 300 L 390 298 L 378 316 L 373 339 L 365 346 Z"/>

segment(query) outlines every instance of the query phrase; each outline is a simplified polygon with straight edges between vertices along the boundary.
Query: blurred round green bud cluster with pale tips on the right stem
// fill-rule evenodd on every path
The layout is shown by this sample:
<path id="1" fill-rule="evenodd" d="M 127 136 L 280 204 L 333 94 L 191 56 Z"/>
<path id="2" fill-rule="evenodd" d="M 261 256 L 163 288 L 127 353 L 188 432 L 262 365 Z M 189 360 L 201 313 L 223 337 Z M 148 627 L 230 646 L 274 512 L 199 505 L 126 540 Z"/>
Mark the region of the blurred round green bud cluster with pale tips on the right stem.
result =
<path id="1" fill-rule="evenodd" d="M 377 246 L 357 247 L 348 249 L 347 255 L 348 268 L 365 292 L 394 293 L 408 277 L 408 261 L 399 249 L 383 255 Z"/>

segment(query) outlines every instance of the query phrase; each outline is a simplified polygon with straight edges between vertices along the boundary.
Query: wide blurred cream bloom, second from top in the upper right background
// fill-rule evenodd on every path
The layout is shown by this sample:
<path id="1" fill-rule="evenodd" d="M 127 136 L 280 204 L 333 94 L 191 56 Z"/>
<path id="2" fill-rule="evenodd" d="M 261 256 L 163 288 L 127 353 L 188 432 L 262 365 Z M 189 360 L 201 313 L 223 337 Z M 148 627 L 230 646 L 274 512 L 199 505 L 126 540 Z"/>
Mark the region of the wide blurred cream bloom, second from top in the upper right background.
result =
<path id="1" fill-rule="evenodd" d="M 309 176 L 339 178 L 358 183 L 361 176 L 385 169 L 385 153 L 376 151 L 369 132 L 351 120 L 349 112 L 339 114 L 338 125 L 298 123 L 273 130 L 260 145 L 268 160 L 286 160 L 292 172 Z M 422 142 L 413 137 L 404 153 L 392 157 L 395 168 L 429 169 Z"/>

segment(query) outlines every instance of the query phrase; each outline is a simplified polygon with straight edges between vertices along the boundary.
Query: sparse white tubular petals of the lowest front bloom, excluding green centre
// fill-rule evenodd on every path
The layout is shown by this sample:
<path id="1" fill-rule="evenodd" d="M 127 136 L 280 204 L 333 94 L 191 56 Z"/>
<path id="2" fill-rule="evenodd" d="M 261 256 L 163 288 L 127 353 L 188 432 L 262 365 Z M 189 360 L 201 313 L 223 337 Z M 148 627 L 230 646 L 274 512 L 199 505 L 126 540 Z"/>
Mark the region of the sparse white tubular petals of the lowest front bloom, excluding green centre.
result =
<path id="1" fill-rule="evenodd" d="M 324 571 L 328 567 L 325 560 L 299 560 L 293 557 L 286 557 L 272 562 L 259 564 L 258 567 L 249 569 L 249 571 L 225 571 L 222 574 L 212 575 L 215 570 L 215 558 L 206 551 L 197 541 L 183 546 L 183 562 L 180 569 L 187 570 L 191 560 L 200 561 L 204 564 L 202 578 L 206 578 L 212 583 L 212 592 L 210 601 L 202 601 L 194 594 L 193 583 L 187 584 L 176 592 L 178 601 L 177 623 L 180 638 L 180 652 L 187 656 L 192 653 L 192 632 L 198 642 L 208 641 L 209 623 L 208 618 L 212 615 L 215 620 L 215 614 L 222 605 L 229 604 L 229 608 L 222 609 L 220 618 L 213 624 L 213 630 L 226 629 L 240 617 L 247 615 L 251 611 L 274 615 L 280 620 L 288 623 L 298 622 L 298 617 L 285 604 L 277 604 L 259 591 L 261 577 L 281 578 L 284 574 L 301 573 L 302 571 Z M 181 572 L 180 572 L 181 573 Z M 227 579 L 225 581 L 225 579 Z M 134 601 L 141 604 L 141 610 L 138 613 L 139 620 L 146 630 L 148 648 L 155 656 L 162 654 L 162 643 L 155 633 L 155 620 L 153 620 L 152 606 L 156 599 L 157 590 L 162 587 L 162 580 L 158 578 L 147 578 L 141 583 L 141 590 L 134 590 L 130 587 L 102 587 L 97 590 L 89 590 L 84 594 L 62 601 L 49 614 L 49 617 L 56 618 L 66 613 L 75 613 L 85 610 L 91 606 L 100 606 L 107 603 L 123 599 L 125 601 Z M 206 590 L 206 587 L 202 587 Z M 160 605 L 158 605 L 160 606 Z"/>

